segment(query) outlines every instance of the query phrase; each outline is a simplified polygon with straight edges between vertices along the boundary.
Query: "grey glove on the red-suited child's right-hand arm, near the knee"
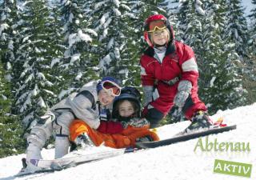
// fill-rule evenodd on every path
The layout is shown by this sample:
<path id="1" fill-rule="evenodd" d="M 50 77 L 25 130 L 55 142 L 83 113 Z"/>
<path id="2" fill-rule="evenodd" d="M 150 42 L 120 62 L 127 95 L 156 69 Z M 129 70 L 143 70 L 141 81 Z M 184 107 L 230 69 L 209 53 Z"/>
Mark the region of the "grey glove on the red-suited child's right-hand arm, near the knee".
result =
<path id="1" fill-rule="evenodd" d="M 178 93 L 174 97 L 174 105 L 182 108 L 185 105 L 186 99 L 189 97 L 192 89 L 192 83 L 187 80 L 182 80 L 178 83 Z"/>

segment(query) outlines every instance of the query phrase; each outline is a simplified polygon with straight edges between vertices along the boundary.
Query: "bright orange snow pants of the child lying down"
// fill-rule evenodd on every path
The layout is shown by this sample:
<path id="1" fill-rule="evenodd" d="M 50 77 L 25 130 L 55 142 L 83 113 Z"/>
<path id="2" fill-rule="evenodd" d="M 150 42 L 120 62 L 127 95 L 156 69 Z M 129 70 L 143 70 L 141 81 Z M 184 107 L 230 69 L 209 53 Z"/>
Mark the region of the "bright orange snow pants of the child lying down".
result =
<path id="1" fill-rule="evenodd" d="M 120 134 L 102 134 L 97 130 L 90 128 L 82 120 L 75 119 L 70 124 L 70 140 L 74 142 L 75 138 L 82 133 L 87 133 L 95 146 L 100 146 L 103 142 L 105 146 L 112 148 L 124 148 L 135 146 L 137 138 L 150 136 L 154 141 L 158 141 L 158 134 L 149 130 L 149 126 L 133 127 L 128 126 Z"/>

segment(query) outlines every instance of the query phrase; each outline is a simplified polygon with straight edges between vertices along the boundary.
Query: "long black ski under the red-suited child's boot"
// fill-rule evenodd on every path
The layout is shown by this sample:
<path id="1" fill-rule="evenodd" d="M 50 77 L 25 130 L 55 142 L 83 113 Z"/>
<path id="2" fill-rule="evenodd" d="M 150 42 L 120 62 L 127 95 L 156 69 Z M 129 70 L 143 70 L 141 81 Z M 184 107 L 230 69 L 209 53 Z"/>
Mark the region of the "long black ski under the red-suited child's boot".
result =
<path id="1" fill-rule="evenodd" d="M 224 126 L 224 127 L 214 127 L 207 130 L 202 131 L 195 131 L 189 134 L 182 134 L 175 136 L 174 138 L 167 138 L 158 142 L 137 142 L 136 146 L 138 148 L 148 149 L 148 148 L 155 148 L 158 146 L 166 146 L 170 145 L 176 142 L 185 142 L 187 140 L 193 139 L 193 138 L 199 138 L 202 136 L 210 135 L 210 134 L 218 134 L 229 130 L 235 130 L 237 128 L 236 125 L 233 126 Z"/>

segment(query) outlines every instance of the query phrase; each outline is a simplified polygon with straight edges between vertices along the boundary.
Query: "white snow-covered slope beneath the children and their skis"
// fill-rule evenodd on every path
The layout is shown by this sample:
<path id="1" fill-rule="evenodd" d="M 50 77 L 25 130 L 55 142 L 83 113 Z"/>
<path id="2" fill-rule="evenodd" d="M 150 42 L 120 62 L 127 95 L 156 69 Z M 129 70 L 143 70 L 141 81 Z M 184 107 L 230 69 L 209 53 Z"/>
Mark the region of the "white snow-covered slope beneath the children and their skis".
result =
<path id="1" fill-rule="evenodd" d="M 214 142 L 250 142 L 250 152 L 202 152 L 196 150 L 198 139 L 180 142 L 170 146 L 162 146 L 152 150 L 143 150 L 131 154 L 122 154 L 98 162 L 90 162 L 70 169 L 48 173 L 33 174 L 26 177 L 14 178 L 21 169 L 21 158 L 25 154 L 0 159 L 0 179 L 90 179 L 90 180 L 154 180 L 154 179 L 245 179 L 238 176 L 216 174 L 214 160 L 222 159 L 232 162 L 252 164 L 251 179 L 256 179 L 256 103 L 242 106 L 234 110 L 219 111 L 212 118 L 224 117 L 229 125 L 237 124 L 237 130 L 209 136 Z M 187 126 L 188 122 L 162 126 L 158 130 L 161 138 L 167 138 Z M 205 138 L 202 138 L 204 141 Z M 53 156 L 53 150 L 43 150 L 45 158 Z"/>

